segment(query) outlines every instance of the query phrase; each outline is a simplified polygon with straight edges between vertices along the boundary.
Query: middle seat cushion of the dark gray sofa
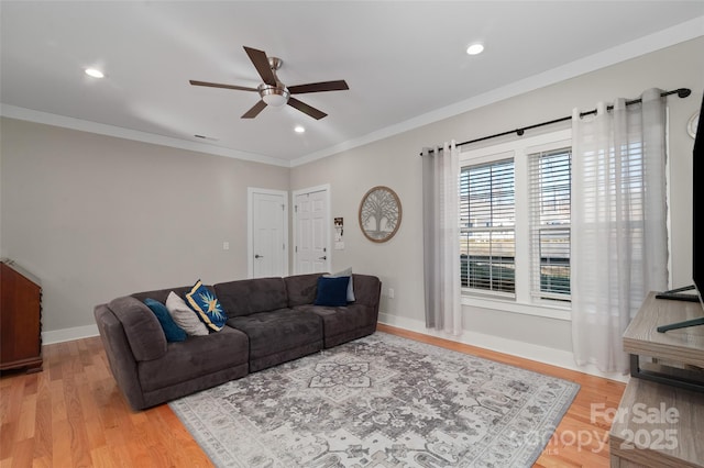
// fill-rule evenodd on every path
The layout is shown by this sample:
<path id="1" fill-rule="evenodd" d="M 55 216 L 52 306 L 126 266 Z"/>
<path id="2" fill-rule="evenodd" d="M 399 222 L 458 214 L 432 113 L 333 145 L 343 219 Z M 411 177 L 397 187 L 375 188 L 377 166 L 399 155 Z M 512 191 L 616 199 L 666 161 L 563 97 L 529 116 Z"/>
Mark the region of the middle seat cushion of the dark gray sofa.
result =
<path id="1" fill-rule="evenodd" d="M 311 343 L 322 343 L 322 321 L 308 311 L 279 309 L 260 312 L 230 319 L 228 325 L 246 333 L 250 338 L 250 361 Z"/>

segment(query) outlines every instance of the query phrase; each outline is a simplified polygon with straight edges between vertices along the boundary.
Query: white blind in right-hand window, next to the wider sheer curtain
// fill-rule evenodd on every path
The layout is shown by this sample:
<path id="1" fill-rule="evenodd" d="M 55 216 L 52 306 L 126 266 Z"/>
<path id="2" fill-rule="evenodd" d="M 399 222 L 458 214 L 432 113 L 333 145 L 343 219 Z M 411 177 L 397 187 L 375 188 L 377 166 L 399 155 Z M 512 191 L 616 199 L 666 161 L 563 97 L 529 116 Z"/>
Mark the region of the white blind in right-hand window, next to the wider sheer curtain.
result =
<path id="1" fill-rule="evenodd" d="M 531 294 L 570 299 L 571 148 L 529 155 Z"/>

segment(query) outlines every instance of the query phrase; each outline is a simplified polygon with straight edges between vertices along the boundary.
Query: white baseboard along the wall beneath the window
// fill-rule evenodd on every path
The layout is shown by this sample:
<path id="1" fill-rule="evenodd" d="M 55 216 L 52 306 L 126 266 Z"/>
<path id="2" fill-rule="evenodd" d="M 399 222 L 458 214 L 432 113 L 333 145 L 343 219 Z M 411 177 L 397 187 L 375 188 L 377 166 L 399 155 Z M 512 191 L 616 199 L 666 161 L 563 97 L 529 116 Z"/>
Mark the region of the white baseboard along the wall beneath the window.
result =
<path id="1" fill-rule="evenodd" d="M 591 376 L 617 380 L 619 382 L 627 382 L 629 379 L 629 376 L 624 376 L 616 372 L 602 372 L 594 366 L 579 367 L 574 363 L 574 355 L 572 354 L 572 352 L 549 348 L 547 346 L 540 346 L 531 343 L 518 342 L 515 339 L 502 338 L 501 336 L 487 335 L 484 333 L 470 331 L 464 331 L 461 335 L 454 336 L 449 333 L 427 328 L 426 324 L 419 320 L 399 317 L 396 315 L 389 315 L 384 312 L 380 312 L 378 315 L 380 323 L 408 330 L 410 332 L 422 333 L 424 335 L 436 336 L 439 338 L 476 346 L 497 353 L 518 356 L 525 359 L 537 360 L 539 363 L 549 364 L 551 366 L 562 367 L 563 369 L 576 370 L 578 372 L 584 372 Z"/>

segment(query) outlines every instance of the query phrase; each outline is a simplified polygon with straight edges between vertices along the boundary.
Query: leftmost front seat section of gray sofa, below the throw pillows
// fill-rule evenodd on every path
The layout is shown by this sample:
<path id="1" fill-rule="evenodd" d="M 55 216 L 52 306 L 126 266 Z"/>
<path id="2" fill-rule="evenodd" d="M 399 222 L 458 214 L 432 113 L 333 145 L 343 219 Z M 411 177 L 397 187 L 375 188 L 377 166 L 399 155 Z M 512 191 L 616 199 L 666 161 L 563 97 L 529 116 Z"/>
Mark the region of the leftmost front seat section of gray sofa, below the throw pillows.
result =
<path id="1" fill-rule="evenodd" d="M 142 390 L 162 389 L 246 364 L 248 350 L 246 335 L 227 326 L 207 336 L 169 343 L 162 358 L 138 364 Z"/>

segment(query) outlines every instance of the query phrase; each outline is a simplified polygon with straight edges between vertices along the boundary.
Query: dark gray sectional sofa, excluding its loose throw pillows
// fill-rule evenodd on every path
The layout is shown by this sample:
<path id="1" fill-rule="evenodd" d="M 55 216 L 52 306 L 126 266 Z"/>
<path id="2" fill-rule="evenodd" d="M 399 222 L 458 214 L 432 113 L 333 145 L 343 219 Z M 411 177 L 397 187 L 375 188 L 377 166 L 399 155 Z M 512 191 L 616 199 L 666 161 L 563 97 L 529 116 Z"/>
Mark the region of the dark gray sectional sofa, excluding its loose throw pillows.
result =
<path id="1" fill-rule="evenodd" d="M 168 343 L 147 298 L 164 303 L 179 287 L 139 292 L 95 308 L 110 369 L 134 410 L 218 386 L 287 360 L 370 335 L 376 330 L 381 281 L 353 275 L 354 302 L 315 305 L 321 274 L 221 282 L 207 288 L 227 313 L 226 326 Z"/>

